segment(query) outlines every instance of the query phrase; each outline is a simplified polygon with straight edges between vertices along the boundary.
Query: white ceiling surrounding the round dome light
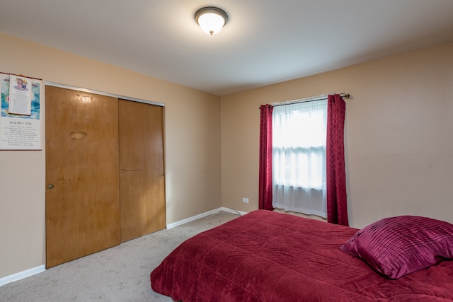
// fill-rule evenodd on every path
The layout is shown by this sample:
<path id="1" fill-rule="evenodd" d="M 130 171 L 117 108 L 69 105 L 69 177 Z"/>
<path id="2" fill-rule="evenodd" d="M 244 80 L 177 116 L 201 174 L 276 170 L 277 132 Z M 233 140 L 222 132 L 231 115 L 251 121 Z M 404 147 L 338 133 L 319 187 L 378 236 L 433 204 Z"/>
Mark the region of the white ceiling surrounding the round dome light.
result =
<path id="1" fill-rule="evenodd" d="M 229 14 L 217 35 L 202 6 Z M 226 95 L 452 42 L 452 16 L 453 0 L 1 0 L 0 31 Z"/>

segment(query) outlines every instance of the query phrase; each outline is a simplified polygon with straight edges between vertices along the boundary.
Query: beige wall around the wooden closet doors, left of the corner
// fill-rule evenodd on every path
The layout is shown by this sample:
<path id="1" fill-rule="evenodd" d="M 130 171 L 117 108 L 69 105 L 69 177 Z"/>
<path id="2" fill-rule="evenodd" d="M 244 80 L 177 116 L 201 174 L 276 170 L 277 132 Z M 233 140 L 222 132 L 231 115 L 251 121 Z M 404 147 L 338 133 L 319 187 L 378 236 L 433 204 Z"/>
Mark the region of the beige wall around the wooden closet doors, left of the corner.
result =
<path id="1" fill-rule="evenodd" d="M 0 45 L 0 72 L 164 103 L 167 223 L 221 207 L 218 96 L 2 33 Z M 45 264 L 44 105 L 43 150 L 0 151 L 0 278 Z"/>

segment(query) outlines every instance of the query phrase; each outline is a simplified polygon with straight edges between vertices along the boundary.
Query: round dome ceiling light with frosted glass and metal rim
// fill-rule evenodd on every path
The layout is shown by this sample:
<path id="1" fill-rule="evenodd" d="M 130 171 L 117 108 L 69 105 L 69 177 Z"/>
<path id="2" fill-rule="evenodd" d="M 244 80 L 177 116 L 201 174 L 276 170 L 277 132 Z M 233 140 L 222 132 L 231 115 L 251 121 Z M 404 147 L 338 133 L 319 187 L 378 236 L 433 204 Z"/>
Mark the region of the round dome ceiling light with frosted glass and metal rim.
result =
<path id="1" fill-rule="evenodd" d="M 221 8 L 206 6 L 195 12 L 195 21 L 205 33 L 214 35 L 224 27 L 228 14 Z"/>

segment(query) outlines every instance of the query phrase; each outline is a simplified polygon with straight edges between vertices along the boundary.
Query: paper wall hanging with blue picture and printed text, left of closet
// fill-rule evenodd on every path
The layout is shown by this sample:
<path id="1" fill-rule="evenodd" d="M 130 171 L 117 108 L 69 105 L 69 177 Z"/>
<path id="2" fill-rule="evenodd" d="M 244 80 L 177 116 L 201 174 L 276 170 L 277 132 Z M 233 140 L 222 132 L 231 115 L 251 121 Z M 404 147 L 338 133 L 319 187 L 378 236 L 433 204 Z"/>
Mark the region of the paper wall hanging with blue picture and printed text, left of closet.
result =
<path id="1" fill-rule="evenodd" d="M 0 73 L 0 150 L 42 150 L 42 80 Z"/>

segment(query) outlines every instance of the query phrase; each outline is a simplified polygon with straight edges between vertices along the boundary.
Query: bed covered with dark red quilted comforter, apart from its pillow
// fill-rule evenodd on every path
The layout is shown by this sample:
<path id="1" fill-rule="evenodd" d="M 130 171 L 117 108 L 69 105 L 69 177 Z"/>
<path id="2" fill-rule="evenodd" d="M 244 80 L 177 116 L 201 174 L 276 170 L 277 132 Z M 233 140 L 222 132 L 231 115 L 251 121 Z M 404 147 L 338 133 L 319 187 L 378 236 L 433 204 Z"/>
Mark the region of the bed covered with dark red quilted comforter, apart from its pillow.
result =
<path id="1" fill-rule="evenodd" d="M 421 224 L 414 221 L 411 228 Z M 399 269 L 397 274 L 403 276 L 391 277 L 380 272 L 366 252 L 352 255 L 351 251 L 362 238 L 365 245 L 373 245 L 364 230 L 373 236 L 387 226 L 389 222 L 384 221 L 379 227 L 358 230 L 290 214 L 252 211 L 179 245 L 151 272 L 151 288 L 183 302 L 453 301 L 453 226 L 445 223 L 440 228 L 441 242 L 436 240 L 444 251 L 431 257 L 430 265 L 411 267 L 412 271 L 406 267 L 407 272 Z M 429 223 L 428 228 L 433 229 Z M 398 236 L 401 226 L 396 229 Z M 382 233 L 377 235 L 382 238 Z M 347 243 L 352 245 L 346 247 Z M 391 240 L 389 244 L 395 246 Z M 408 251 L 413 258 L 413 248 L 401 248 L 403 252 L 393 252 Z M 385 253 L 378 248 L 377 258 Z"/>

